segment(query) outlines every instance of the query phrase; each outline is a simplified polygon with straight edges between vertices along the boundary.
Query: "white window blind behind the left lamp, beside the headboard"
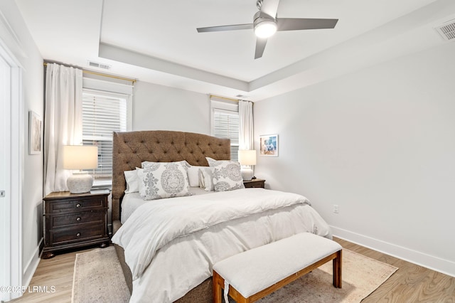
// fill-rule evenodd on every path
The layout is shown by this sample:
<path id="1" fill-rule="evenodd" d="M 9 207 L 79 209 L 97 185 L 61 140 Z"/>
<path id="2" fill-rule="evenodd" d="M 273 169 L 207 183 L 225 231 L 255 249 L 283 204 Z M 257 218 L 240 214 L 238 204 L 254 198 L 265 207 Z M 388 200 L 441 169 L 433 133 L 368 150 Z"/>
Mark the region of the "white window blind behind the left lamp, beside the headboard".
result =
<path id="1" fill-rule="evenodd" d="M 82 142 L 98 147 L 94 185 L 112 180 L 112 132 L 127 131 L 127 96 L 82 92 Z"/>

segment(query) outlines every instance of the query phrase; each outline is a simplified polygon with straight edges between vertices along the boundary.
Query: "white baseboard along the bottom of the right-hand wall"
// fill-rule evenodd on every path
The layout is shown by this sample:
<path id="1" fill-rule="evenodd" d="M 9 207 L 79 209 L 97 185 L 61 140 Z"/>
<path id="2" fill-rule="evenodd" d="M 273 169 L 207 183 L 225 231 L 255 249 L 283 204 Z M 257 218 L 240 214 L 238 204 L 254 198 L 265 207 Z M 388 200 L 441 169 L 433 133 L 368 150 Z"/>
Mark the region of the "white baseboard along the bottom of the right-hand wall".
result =
<path id="1" fill-rule="evenodd" d="M 358 233 L 353 233 L 349 230 L 344 230 L 343 228 L 331 226 L 331 229 L 333 235 L 337 238 L 348 240 L 349 242 L 362 245 L 365 248 L 371 248 L 373 250 L 377 250 L 378 252 L 382 252 L 387 255 L 400 258 L 407 262 L 411 262 L 423 267 L 427 267 L 431 270 L 436 270 L 437 272 L 442 272 L 443 274 L 449 275 L 451 277 L 455 277 L 455 262 L 441 259 L 440 257 L 435 257 L 433 255 L 427 255 L 424 252 L 411 250 L 410 248 L 404 248 L 400 245 L 395 245 L 375 238 L 370 238 Z"/>

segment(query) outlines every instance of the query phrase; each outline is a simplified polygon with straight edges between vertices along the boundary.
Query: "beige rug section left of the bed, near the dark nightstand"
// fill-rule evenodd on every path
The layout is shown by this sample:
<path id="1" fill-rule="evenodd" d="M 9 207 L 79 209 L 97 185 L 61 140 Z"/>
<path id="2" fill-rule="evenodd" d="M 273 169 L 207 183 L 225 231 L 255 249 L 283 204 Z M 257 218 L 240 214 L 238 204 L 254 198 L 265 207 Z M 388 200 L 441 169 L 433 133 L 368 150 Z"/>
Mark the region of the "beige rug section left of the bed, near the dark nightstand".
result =
<path id="1" fill-rule="evenodd" d="M 72 303 L 121 303 L 129 297 L 114 246 L 76 254 Z"/>

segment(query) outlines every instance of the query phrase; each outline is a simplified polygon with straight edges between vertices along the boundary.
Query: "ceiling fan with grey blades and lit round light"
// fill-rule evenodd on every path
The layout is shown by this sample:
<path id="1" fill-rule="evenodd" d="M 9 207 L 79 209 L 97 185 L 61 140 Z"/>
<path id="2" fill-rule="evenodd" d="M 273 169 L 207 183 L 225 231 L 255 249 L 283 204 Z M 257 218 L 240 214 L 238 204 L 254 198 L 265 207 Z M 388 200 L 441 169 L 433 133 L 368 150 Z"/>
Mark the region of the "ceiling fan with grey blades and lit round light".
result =
<path id="1" fill-rule="evenodd" d="M 272 36 L 276 31 L 334 28 L 338 22 L 338 19 L 278 18 L 278 4 L 279 0 L 257 0 L 256 6 L 259 11 L 253 17 L 253 23 L 202 27 L 197 28 L 198 33 L 254 29 L 257 37 L 255 50 L 255 59 L 257 59 L 261 58 L 264 53 L 267 38 Z"/>

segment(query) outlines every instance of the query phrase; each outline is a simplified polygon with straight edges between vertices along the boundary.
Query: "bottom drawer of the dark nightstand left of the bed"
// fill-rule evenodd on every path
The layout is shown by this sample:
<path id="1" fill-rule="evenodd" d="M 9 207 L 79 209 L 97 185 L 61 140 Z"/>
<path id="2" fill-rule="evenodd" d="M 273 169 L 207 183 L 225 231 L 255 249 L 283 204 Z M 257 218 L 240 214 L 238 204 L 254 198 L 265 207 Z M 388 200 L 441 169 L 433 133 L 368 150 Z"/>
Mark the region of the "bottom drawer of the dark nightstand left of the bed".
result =
<path id="1" fill-rule="evenodd" d="M 50 243 L 52 243 L 52 245 L 97 239 L 102 238 L 104 235 L 105 228 L 100 224 L 91 226 L 86 225 L 84 228 L 72 228 L 70 230 L 49 230 Z"/>

